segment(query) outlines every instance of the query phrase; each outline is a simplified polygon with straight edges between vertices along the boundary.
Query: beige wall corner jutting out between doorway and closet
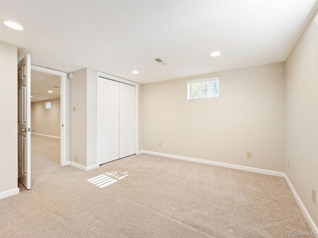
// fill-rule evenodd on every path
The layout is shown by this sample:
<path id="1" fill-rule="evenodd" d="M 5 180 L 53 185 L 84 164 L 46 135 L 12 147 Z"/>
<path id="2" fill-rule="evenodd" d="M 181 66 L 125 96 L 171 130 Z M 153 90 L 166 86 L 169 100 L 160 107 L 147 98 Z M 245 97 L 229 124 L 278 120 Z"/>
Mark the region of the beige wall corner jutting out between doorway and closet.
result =
<path id="1" fill-rule="evenodd" d="M 96 72 L 83 68 L 70 79 L 70 161 L 87 167 L 97 163 Z"/>

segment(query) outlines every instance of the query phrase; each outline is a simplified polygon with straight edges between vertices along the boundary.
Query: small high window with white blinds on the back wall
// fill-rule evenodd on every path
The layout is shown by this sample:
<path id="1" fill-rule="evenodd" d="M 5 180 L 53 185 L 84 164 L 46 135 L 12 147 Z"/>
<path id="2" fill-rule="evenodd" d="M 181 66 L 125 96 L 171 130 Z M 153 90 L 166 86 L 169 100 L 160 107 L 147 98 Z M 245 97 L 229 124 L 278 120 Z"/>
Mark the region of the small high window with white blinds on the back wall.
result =
<path id="1" fill-rule="evenodd" d="M 220 78 L 202 78 L 187 81 L 188 100 L 220 97 Z"/>

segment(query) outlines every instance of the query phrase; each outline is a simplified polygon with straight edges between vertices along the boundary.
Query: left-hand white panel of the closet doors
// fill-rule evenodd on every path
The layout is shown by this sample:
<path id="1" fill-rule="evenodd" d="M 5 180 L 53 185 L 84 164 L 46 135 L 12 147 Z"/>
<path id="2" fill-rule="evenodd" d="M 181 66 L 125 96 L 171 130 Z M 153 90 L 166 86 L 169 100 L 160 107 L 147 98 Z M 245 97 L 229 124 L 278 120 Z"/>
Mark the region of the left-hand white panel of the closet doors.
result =
<path id="1" fill-rule="evenodd" d="M 98 160 L 104 164 L 119 159 L 119 82 L 99 78 Z"/>

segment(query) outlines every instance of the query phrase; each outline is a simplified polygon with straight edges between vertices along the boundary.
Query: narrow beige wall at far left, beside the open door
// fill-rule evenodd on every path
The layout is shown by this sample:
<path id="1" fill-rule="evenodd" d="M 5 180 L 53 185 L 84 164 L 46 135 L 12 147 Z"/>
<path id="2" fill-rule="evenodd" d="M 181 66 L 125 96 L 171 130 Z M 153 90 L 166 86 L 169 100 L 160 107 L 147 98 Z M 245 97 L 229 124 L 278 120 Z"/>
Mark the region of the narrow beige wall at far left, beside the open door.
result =
<path id="1" fill-rule="evenodd" d="M 18 189 L 17 47 L 0 42 L 0 193 Z"/>

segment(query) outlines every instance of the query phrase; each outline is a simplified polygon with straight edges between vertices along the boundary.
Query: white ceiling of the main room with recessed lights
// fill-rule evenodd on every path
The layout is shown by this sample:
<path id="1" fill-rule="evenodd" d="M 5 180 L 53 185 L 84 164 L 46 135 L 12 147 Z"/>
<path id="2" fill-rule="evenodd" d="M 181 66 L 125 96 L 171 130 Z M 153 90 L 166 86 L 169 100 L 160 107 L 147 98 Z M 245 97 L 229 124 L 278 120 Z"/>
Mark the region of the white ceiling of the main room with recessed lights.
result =
<path id="1" fill-rule="evenodd" d="M 35 65 L 149 83 L 285 61 L 316 0 L 0 1 L 0 40 Z M 220 51 L 220 57 L 209 54 Z M 160 65 L 155 58 L 166 61 Z M 139 74 L 132 74 L 138 70 Z"/>

